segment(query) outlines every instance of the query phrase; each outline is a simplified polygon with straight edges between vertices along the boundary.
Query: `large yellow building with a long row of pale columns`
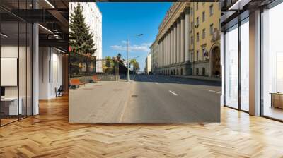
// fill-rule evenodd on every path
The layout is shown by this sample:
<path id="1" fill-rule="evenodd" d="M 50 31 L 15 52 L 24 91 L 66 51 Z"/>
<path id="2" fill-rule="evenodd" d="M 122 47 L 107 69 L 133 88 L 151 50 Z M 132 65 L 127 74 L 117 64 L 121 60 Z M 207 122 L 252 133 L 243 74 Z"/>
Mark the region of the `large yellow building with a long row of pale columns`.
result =
<path id="1" fill-rule="evenodd" d="M 154 42 L 154 73 L 220 77 L 219 19 L 219 3 L 173 3 Z"/>

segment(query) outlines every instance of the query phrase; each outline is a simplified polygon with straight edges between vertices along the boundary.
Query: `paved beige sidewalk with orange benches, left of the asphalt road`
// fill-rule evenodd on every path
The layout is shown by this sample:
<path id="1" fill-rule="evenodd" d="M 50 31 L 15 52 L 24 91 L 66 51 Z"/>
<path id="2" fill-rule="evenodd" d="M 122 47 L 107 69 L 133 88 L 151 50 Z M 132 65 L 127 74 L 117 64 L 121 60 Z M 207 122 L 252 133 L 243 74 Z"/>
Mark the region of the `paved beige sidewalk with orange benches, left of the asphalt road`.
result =
<path id="1" fill-rule="evenodd" d="M 100 81 L 69 91 L 70 123 L 120 122 L 132 82 Z"/>

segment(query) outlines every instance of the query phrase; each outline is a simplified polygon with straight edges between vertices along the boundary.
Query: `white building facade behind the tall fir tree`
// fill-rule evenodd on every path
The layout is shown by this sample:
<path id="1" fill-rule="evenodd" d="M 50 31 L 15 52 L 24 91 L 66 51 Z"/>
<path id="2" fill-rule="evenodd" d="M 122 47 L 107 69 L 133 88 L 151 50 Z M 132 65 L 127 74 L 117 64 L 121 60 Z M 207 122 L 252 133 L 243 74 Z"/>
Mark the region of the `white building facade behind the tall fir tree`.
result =
<path id="1" fill-rule="evenodd" d="M 69 16 L 74 13 L 74 9 L 78 6 L 79 2 L 69 3 Z M 93 42 L 95 43 L 96 59 L 102 59 L 102 14 L 95 2 L 83 2 L 80 3 L 83 11 L 83 17 L 85 18 L 85 23 L 90 28 L 93 34 Z M 97 65 L 97 71 L 102 71 L 102 63 Z"/>

